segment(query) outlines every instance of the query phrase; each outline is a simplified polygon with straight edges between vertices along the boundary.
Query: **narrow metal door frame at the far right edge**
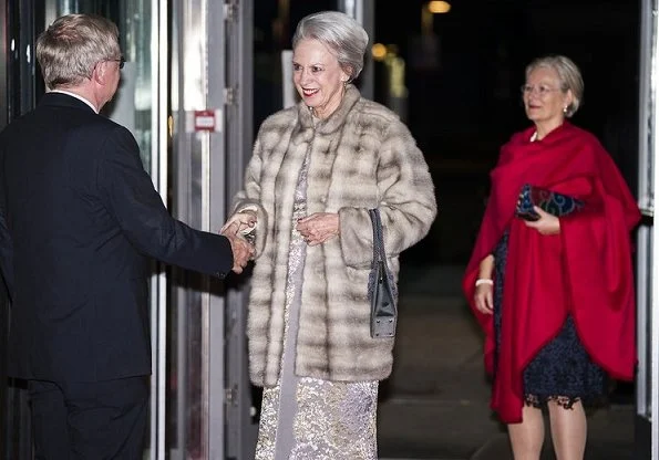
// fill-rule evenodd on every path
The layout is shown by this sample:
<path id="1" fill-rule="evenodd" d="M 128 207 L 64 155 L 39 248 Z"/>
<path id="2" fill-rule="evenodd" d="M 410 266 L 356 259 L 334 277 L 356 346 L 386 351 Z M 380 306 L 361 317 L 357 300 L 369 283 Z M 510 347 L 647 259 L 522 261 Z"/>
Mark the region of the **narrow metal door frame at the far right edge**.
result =
<path id="1" fill-rule="evenodd" d="M 636 388 L 637 460 L 659 459 L 659 17 L 657 0 L 641 0 L 639 69 L 638 230 Z"/>

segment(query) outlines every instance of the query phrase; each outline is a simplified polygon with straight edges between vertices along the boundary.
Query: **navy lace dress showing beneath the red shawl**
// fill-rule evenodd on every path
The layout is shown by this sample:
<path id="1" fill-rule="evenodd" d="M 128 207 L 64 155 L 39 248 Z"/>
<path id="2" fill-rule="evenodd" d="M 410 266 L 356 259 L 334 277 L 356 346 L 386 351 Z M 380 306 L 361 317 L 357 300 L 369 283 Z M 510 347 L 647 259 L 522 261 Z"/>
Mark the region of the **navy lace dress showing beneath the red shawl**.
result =
<path id="1" fill-rule="evenodd" d="M 501 344 L 507 243 L 506 232 L 494 250 L 494 331 L 497 348 Z M 560 333 L 524 369 L 524 396 L 529 406 L 543 407 L 548 400 L 555 400 L 565 408 L 570 408 L 577 400 L 591 405 L 603 399 L 606 387 L 607 375 L 588 356 L 572 316 L 567 317 Z"/>

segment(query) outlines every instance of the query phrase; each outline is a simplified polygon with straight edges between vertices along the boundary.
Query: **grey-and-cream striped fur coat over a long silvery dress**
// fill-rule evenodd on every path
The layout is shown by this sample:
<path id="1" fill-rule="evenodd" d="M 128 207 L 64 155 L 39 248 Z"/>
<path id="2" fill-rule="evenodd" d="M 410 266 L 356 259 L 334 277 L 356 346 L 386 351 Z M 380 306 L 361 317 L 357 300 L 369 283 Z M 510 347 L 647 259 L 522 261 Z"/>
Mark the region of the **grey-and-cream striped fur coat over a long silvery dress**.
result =
<path id="1" fill-rule="evenodd" d="M 247 334 L 255 385 L 277 383 L 284 348 L 284 309 L 294 191 L 307 150 L 308 215 L 338 212 L 340 233 L 307 247 L 296 374 L 329 380 L 380 380 L 392 368 L 393 338 L 370 337 L 367 284 L 372 250 L 368 209 L 378 207 L 389 265 L 421 240 L 436 215 L 423 154 L 398 116 L 349 85 L 340 107 L 313 126 L 296 107 L 261 125 L 234 210 L 257 210 L 257 258 Z"/>

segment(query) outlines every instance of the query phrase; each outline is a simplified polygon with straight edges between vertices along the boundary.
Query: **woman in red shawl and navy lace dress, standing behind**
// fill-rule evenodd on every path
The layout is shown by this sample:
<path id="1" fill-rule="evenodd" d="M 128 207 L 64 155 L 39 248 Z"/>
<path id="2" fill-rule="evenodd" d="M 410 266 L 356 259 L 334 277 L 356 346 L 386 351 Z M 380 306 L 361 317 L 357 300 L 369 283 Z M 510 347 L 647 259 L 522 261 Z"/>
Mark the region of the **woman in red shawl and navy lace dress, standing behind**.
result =
<path id="1" fill-rule="evenodd" d="M 463 279 L 486 334 L 492 408 L 507 424 L 515 459 L 539 459 L 542 408 L 559 460 L 581 459 L 584 404 L 605 395 L 607 376 L 635 373 L 630 231 L 640 213 L 608 153 L 567 122 L 584 83 L 565 56 L 526 69 L 524 108 L 533 126 L 512 136 L 491 172 L 492 191 Z M 515 216 L 529 184 L 584 207 L 560 218 Z"/>

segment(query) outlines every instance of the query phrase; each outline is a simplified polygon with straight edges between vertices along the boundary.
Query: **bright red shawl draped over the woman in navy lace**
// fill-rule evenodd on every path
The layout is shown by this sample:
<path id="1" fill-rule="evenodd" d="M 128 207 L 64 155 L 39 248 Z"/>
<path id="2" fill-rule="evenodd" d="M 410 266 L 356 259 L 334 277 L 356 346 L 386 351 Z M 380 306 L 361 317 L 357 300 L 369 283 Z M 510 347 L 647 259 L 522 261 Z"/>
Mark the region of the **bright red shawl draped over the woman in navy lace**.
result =
<path id="1" fill-rule="evenodd" d="M 502 147 L 492 191 L 463 279 L 463 291 L 486 334 L 485 366 L 494 370 L 493 316 L 475 310 L 478 264 L 509 230 L 501 348 L 491 407 L 519 422 L 523 372 L 572 314 L 593 360 L 630 380 L 636 365 L 635 286 L 630 231 L 640 212 L 618 168 L 599 142 L 564 123 L 544 139 L 534 128 Z M 514 217 L 525 184 L 580 198 L 585 209 L 560 219 L 558 236 L 542 236 Z"/>

